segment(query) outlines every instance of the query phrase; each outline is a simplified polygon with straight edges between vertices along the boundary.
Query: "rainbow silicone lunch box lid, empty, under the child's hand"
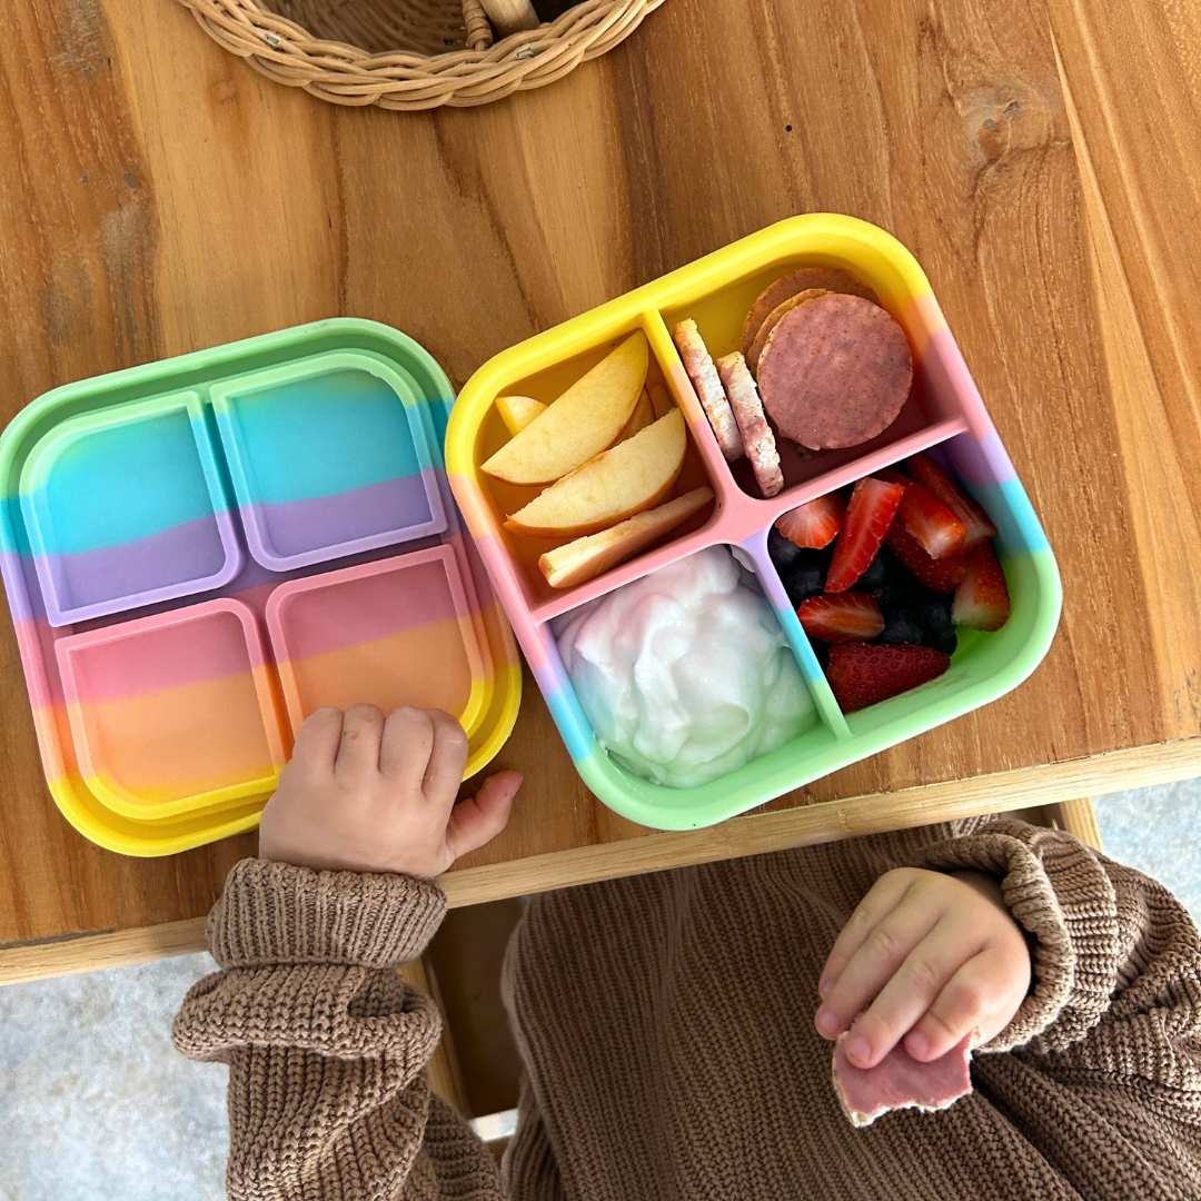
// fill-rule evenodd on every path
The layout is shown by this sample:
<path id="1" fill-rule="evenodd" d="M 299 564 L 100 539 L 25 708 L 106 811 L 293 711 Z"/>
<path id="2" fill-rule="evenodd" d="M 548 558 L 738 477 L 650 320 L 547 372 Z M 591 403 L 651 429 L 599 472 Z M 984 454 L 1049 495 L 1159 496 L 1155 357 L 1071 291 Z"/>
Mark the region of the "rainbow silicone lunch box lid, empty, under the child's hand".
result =
<path id="1" fill-rule="evenodd" d="M 252 829 L 323 705 L 437 706 L 467 772 L 521 698 L 442 461 L 454 394 L 317 322 L 47 393 L 0 437 L 0 568 L 46 778 L 112 850 Z"/>

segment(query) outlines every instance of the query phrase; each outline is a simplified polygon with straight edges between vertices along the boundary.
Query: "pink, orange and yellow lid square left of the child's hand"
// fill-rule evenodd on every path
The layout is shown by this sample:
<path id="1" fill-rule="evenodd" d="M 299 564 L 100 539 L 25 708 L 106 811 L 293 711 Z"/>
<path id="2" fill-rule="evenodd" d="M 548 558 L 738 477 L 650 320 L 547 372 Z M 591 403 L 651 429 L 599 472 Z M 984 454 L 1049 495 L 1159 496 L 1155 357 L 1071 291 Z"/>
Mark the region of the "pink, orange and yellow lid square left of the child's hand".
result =
<path id="1" fill-rule="evenodd" d="M 275 788 L 283 742 L 241 602 L 71 634 L 55 655 L 80 773 L 116 813 L 167 818 Z"/>

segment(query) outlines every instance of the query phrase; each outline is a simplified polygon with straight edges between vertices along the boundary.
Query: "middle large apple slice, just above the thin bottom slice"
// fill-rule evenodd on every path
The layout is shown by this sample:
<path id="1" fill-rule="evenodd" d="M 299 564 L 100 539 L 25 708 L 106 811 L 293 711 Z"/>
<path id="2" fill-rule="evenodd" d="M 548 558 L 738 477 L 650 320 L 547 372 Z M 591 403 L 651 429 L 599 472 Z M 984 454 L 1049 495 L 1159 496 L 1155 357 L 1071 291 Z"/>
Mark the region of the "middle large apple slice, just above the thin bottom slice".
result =
<path id="1" fill-rule="evenodd" d="M 608 530 L 668 497 L 687 446 L 683 413 L 676 410 L 551 484 L 514 513 L 504 528 L 532 538 Z"/>

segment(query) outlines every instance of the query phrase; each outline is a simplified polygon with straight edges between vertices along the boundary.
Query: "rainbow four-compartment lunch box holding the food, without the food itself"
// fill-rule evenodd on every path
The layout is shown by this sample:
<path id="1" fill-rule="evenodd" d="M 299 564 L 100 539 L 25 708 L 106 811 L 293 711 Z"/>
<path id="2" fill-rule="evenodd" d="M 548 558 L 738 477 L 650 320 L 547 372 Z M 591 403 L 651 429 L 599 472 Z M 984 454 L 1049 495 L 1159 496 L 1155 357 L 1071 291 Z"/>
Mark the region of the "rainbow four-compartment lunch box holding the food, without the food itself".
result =
<path id="1" fill-rule="evenodd" d="M 876 289 L 909 337 L 914 388 L 892 426 L 868 443 L 805 459 L 782 443 L 784 490 L 763 500 L 749 464 L 723 459 L 670 329 L 692 317 L 715 359 L 740 349 L 743 318 L 755 297 L 800 267 L 843 268 Z M 554 544 L 503 528 L 506 515 L 528 498 L 530 490 L 522 495 L 479 470 L 508 438 L 495 401 L 509 394 L 551 402 L 637 329 L 650 342 L 650 381 L 667 384 L 688 426 L 691 446 L 676 492 L 707 483 L 716 501 L 656 549 L 585 584 L 555 591 L 537 566 L 538 555 Z M 767 555 L 767 531 L 797 504 L 919 450 L 950 467 L 992 516 L 1012 614 L 996 633 L 961 629 L 951 667 L 939 679 L 843 715 Z M 896 239 L 852 217 L 811 214 L 782 221 L 496 355 L 459 396 L 446 458 L 467 528 L 576 769 L 610 808 L 646 826 L 711 825 L 978 709 L 1034 670 L 1059 620 L 1062 590 L 1054 557 L 925 274 Z M 563 669 L 551 622 L 715 544 L 739 548 L 743 561 L 753 564 L 818 719 L 794 741 L 712 783 L 664 788 L 626 771 L 598 746 Z"/>

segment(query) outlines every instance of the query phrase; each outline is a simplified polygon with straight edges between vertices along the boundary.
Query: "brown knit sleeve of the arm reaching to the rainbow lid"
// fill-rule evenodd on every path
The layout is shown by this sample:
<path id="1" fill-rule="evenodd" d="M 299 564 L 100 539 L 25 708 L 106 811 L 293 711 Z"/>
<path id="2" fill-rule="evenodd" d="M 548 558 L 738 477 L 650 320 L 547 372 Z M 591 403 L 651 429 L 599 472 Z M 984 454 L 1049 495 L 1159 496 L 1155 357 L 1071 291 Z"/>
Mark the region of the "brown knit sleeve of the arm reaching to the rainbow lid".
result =
<path id="1" fill-rule="evenodd" d="M 396 968 L 446 912 L 429 883 L 246 859 L 209 914 L 221 970 L 175 1016 L 175 1047 L 229 1065 L 234 1201 L 500 1197 L 486 1148 L 423 1068 L 436 1006 Z"/>

